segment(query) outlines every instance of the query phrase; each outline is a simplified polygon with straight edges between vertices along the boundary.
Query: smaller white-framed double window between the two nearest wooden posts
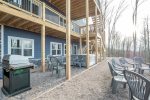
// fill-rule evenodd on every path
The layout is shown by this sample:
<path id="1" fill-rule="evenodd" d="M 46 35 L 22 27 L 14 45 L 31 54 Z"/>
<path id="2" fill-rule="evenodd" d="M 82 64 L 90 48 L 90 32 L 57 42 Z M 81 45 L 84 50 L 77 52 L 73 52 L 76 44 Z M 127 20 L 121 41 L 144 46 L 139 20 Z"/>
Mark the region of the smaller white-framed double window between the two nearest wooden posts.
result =
<path id="1" fill-rule="evenodd" d="M 58 56 L 62 55 L 62 44 L 51 42 L 51 55 Z"/>

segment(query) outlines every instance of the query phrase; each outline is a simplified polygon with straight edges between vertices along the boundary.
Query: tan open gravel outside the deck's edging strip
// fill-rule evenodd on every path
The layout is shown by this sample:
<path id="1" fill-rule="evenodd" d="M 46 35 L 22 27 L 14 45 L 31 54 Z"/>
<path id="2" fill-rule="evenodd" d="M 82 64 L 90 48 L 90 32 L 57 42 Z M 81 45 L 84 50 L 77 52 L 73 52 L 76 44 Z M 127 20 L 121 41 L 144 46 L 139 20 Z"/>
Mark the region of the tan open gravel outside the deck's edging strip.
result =
<path id="1" fill-rule="evenodd" d="M 149 79 L 150 75 L 147 74 Z M 36 100 L 128 100 L 128 86 L 118 86 L 112 94 L 111 75 L 106 60 L 83 74 L 65 82 Z"/>

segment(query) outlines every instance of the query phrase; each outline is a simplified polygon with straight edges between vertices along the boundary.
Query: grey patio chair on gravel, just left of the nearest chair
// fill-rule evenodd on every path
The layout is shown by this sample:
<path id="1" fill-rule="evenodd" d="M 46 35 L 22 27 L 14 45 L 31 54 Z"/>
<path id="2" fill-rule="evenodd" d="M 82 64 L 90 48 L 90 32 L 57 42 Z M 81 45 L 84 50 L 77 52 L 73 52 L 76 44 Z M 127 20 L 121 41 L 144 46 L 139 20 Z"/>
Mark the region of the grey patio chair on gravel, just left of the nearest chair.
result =
<path id="1" fill-rule="evenodd" d="M 112 93 L 116 93 L 116 89 L 118 86 L 118 83 L 123 84 L 124 88 L 126 88 L 126 79 L 124 78 L 124 75 L 122 74 L 122 70 L 117 70 L 114 68 L 115 65 L 112 65 L 108 61 L 108 66 L 112 75 L 112 81 L 111 81 L 111 87 L 112 87 Z"/>

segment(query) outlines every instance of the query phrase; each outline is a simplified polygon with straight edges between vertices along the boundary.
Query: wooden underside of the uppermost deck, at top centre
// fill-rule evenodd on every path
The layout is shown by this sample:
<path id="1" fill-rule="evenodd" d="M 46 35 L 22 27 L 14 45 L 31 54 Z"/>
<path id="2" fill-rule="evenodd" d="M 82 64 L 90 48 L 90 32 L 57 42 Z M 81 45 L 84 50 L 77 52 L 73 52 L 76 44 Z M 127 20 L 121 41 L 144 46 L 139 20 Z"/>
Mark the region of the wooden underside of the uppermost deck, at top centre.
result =
<path id="1" fill-rule="evenodd" d="M 66 0 L 49 0 L 53 5 L 58 7 L 64 14 L 66 14 Z M 71 19 L 77 20 L 85 18 L 85 0 L 71 0 Z M 95 15 L 95 2 L 89 0 L 89 15 Z"/>

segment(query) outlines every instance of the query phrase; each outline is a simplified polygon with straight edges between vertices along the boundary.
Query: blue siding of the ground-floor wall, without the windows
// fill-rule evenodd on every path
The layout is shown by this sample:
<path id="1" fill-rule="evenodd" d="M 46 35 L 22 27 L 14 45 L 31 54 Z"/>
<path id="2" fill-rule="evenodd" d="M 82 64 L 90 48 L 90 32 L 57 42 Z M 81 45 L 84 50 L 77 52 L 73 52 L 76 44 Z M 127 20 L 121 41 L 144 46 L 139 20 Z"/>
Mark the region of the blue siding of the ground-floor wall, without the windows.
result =
<path id="1" fill-rule="evenodd" d="M 34 58 L 41 58 L 41 34 L 4 26 L 4 54 L 8 54 L 8 36 L 34 39 Z M 45 40 L 46 56 L 50 54 L 50 42 L 62 43 L 62 55 L 64 55 L 64 44 L 66 43 L 65 39 L 46 36 Z M 72 45 L 77 45 L 79 49 L 79 43 L 72 42 Z"/>

